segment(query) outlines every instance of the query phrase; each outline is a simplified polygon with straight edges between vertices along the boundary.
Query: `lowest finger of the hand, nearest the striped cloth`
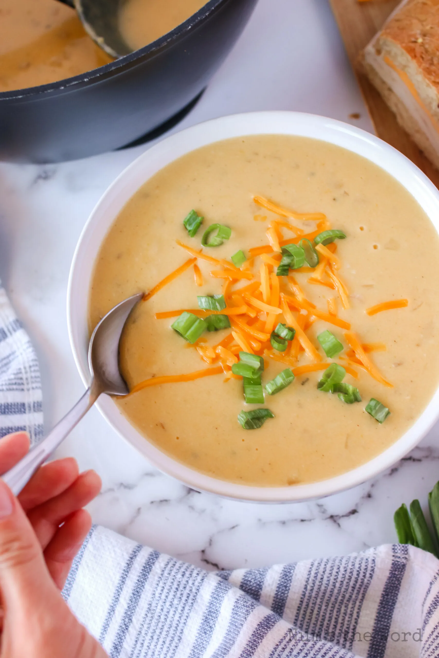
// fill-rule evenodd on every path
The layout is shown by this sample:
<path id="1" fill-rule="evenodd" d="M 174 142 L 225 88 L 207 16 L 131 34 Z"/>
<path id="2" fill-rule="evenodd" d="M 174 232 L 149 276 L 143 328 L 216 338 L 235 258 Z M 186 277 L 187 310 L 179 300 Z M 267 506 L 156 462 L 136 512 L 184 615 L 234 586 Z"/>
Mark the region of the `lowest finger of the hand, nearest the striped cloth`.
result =
<path id="1" fill-rule="evenodd" d="M 59 590 L 63 589 L 72 561 L 90 528 L 90 514 L 85 509 L 78 509 L 66 519 L 47 545 L 45 563 Z"/>

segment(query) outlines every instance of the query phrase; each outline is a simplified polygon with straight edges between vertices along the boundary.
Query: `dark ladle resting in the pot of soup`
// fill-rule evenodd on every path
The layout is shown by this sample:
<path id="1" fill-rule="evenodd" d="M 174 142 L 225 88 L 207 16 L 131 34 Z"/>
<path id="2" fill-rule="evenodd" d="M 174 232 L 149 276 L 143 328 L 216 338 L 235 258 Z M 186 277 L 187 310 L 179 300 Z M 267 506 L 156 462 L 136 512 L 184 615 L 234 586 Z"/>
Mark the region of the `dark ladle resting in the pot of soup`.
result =
<path id="1" fill-rule="evenodd" d="M 88 35 L 111 57 L 132 53 L 119 32 L 118 11 L 121 0 L 58 0 L 76 9 Z"/>

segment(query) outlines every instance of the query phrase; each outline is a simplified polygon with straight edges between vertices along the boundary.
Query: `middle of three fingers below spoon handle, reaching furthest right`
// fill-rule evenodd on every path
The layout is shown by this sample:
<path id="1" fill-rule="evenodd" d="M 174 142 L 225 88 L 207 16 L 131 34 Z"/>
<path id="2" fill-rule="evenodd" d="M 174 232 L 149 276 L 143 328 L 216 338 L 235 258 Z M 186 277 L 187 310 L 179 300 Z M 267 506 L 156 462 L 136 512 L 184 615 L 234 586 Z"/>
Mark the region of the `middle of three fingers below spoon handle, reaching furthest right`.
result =
<path id="1" fill-rule="evenodd" d="M 43 550 L 55 535 L 59 524 L 90 503 L 100 490 L 101 478 L 94 470 L 88 470 L 80 474 L 65 492 L 28 512 L 29 520 Z"/>

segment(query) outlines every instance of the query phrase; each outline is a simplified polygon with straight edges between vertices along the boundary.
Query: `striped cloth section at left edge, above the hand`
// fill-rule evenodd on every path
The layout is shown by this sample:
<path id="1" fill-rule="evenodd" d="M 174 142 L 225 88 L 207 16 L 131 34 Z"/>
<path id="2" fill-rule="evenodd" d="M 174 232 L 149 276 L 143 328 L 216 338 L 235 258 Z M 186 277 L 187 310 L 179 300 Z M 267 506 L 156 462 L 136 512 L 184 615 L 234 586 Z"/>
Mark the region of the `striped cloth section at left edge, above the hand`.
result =
<path id="1" fill-rule="evenodd" d="M 0 284 L 0 437 L 29 432 L 32 445 L 43 436 L 38 360 Z"/>

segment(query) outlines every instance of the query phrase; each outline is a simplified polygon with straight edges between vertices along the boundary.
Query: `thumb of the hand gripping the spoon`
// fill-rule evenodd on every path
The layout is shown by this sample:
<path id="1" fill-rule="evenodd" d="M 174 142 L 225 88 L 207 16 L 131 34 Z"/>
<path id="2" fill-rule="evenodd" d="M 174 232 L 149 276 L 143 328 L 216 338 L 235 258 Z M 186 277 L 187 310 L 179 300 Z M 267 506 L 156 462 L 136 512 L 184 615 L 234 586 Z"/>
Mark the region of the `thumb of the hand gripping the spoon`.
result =
<path id="1" fill-rule="evenodd" d="M 51 587 L 55 586 L 34 530 L 20 503 L 0 479 L 0 590 L 5 611 L 38 605 L 41 595 Z"/>

